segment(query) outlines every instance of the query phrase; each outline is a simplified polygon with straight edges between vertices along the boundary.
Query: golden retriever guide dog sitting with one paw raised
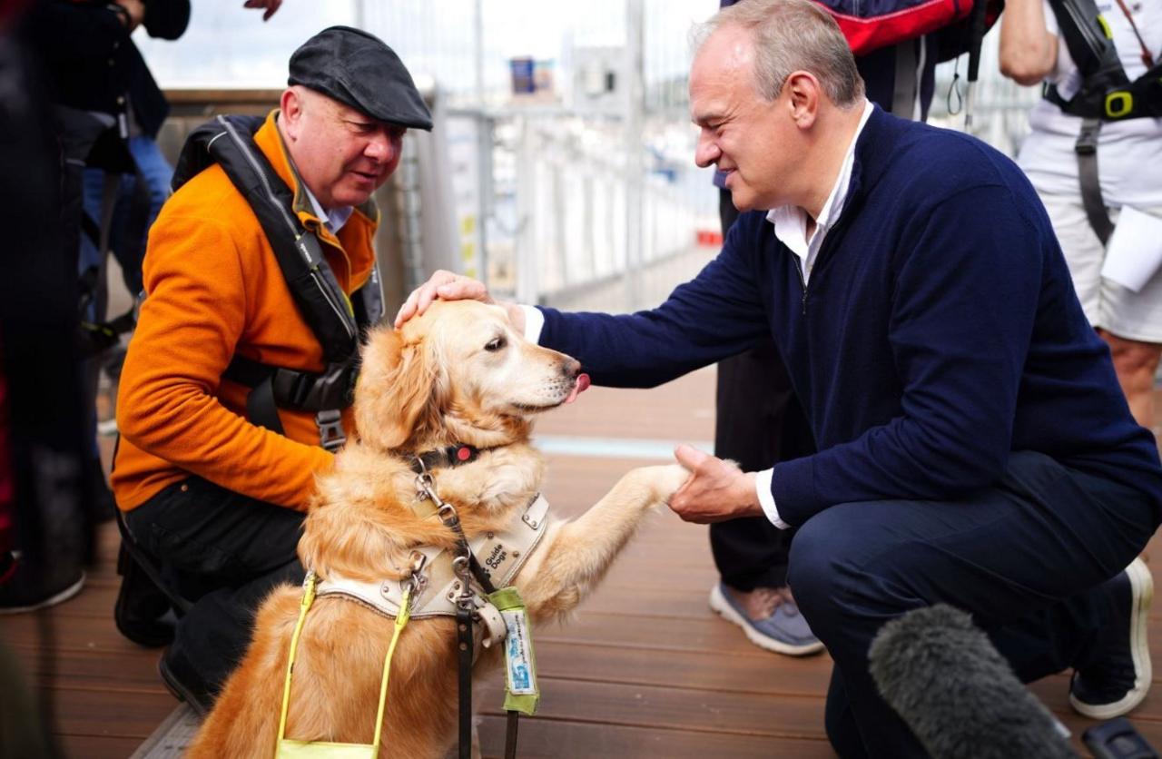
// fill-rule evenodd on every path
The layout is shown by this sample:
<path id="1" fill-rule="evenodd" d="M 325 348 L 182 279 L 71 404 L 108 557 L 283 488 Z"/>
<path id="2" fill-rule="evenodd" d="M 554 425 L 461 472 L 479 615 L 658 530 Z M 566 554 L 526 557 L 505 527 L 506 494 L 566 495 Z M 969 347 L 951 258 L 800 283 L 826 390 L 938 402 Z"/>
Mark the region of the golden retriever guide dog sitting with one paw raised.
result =
<path id="1" fill-rule="evenodd" d="M 417 453 L 467 444 L 472 460 L 430 471 L 464 532 L 504 530 L 537 497 L 545 472 L 531 420 L 575 396 L 580 365 L 533 345 L 498 306 L 437 301 L 400 330 L 376 328 L 356 388 L 358 441 L 318 478 L 299 557 L 321 580 L 404 577 L 417 546 L 451 550 L 456 535 L 417 508 Z M 583 389 L 581 387 L 580 389 Z M 515 580 L 533 625 L 571 611 L 596 586 L 651 507 L 682 485 L 681 466 L 632 470 L 581 517 L 548 513 Z M 487 557 L 480 557 L 485 561 Z M 191 757 L 272 757 L 290 637 L 302 589 L 275 589 L 258 611 L 244 660 L 189 749 Z M 393 621 L 368 604 L 320 595 L 299 642 L 286 737 L 372 743 Z M 480 637 L 478 625 L 476 637 Z M 503 645 L 482 649 L 480 675 Z M 498 704 L 497 704 L 498 706 Z M 457 631 L 452 616 L 415 616 L 392 660 L 383 757 L 443 757 L 457 739 Z"/>

